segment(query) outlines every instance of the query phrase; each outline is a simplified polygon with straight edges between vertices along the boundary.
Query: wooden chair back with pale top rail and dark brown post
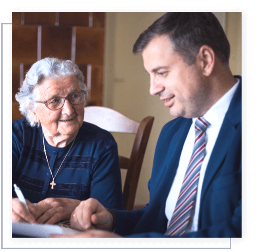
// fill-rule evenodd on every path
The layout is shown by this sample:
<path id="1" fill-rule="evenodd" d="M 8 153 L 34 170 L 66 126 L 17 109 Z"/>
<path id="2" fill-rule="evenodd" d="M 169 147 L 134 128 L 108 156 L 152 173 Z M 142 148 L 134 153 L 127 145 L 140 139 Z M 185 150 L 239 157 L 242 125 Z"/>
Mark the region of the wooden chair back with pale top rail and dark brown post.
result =
<path id="1" fill-rule="evenodd" d="M 154 117 L 149 116 L 138 122 L 110 108 L 88 106 L 84 108 L 84 121 L 110 132 L 136 134 L 130 158 L 119 156 L 120 168 L 127 169 L 123 190 L 124 206 L 126 210 L 132 210 Z"/>

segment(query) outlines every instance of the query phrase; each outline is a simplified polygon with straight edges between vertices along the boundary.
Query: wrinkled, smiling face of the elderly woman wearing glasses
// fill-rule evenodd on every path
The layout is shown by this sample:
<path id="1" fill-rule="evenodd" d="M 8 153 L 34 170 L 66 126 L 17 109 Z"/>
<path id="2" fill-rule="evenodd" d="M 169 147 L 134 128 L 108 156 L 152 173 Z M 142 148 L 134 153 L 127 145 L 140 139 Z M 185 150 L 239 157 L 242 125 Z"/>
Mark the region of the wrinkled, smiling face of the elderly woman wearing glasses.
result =
<path id="1" fill-rule="evenodd" d="M 38 101 L 46 101 L 54 97 L 67 97 L 69 94 L 80 92 L 76 77 L 59 77 L 46 79 L 37 87 Z M 64 139 L 73 138 L 83 124 L 84 102 L 73 105 L 68 99 L 64 106 L 58 110 L 49 110 L 45 104 L 36 103 L 32 117 L 40 122 L 45 135 Z"/>

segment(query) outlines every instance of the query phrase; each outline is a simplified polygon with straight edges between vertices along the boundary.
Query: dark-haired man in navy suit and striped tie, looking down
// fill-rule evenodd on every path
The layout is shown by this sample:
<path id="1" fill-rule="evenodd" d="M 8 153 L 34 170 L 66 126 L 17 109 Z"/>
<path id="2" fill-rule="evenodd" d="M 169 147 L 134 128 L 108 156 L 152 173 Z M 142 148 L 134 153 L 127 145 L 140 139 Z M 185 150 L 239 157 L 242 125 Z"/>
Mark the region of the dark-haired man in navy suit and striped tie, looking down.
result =
<path id="1" fill-rule="evenodd" d="M 90 198 L 71 217 L 73 227 L 86 230 L 76 237 L 241 237 L 242 77 L 229 69 L 230 47 L 217 18 L 211 12 L 166 13 L 140 35 L 133 52 L 142 52 L 150 94 L 177 118 L 160 133 L 147 206 L 110 210 Z M 200 137 L 198 121 L 205 124 Z M 190 196 L 183 202 L 190 202 L 182 209 L 197 139 L 203 157 L 184 189 Z"/>

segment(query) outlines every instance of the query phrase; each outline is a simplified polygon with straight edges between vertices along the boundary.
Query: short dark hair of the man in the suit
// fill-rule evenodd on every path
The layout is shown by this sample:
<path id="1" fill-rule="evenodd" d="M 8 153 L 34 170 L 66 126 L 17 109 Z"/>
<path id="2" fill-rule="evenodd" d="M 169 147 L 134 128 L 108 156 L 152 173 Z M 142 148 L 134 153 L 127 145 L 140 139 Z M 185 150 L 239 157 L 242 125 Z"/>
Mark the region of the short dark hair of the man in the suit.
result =
<path id="1" fill-rule="evenodd" d="M 217 17 L 211 12 L 167 12 L 135 42 L 133 53 L 142 52 L 157 36 L 168 34 L 174 50 L 188 65 L 194 64 L 199 49 L 210 46 L 223 64 L 228 64 L 230 45 Z"/>

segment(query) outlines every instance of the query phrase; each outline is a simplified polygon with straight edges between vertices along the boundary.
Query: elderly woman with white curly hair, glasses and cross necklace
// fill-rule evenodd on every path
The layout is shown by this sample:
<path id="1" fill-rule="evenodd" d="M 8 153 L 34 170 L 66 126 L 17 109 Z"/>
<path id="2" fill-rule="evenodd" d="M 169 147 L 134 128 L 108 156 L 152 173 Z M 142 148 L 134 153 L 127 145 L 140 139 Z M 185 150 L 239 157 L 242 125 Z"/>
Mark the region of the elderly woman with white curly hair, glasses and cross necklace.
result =
<path id="1" fill-rule="evenodd" d="M 26 74 L 16 94 L 25 118 L 12 124 L 12 188 L 21 189 L 29 211 L 12 198 L 13 222 L 53 224 L 90 197 L 124 208 L 117 144 L 83 121 L 85 90 L 70 60 L 45 58 Z"/>

